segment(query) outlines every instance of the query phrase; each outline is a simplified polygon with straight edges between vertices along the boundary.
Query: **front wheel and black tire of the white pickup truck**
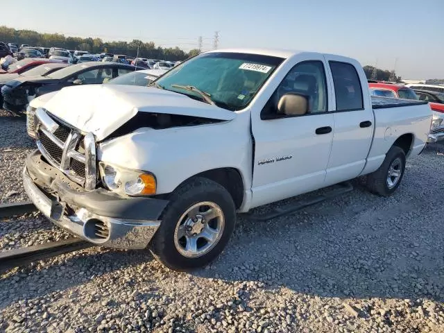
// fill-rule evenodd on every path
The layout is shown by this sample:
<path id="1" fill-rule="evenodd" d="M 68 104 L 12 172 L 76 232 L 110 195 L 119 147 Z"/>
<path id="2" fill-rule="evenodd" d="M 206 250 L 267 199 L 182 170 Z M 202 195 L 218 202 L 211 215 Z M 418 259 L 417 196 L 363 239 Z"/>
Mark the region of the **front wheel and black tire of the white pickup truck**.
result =
<path id="1" fill-rule="evenodd" d="M 236 207 L 232 197 L 217 182 L 195 177 L 173 191 L 169 200 L 169 205 L 162 213 L 160 227 L 151 242 L 151 253 L 174 271 L 188 271 L 210 264 L 222 253 L 234 230 Z M 221 215 L 212 218 L 209 212 Z M 205 220 L 205 216 L 209 221 Z M 218 236 L 211 243 L 203 237 L 208 228 L 213 232 L 219 229 Z M 200 248 L 201 253 L 194 253 L 194 249 L 199 250 L 199 246 L 203 246 Z"/>

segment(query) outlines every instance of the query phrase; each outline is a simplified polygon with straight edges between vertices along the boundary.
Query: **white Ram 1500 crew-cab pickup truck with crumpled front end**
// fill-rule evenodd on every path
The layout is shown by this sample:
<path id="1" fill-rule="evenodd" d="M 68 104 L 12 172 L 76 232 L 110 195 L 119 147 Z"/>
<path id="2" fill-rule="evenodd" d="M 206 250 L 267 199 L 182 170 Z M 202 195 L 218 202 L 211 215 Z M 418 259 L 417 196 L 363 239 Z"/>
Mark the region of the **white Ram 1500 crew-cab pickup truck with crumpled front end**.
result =
<path id="1" fill-rule="evenodd" d="M 420 101 L 372 99 L 356 60 L 312 52 L 202 53 L 151 87 L 42 96 L 24 187 L 94 244 L 149 248 L 176 270 L 228 243 L 236 212 L 368 175 L 389 196 L 432 121 Z"/>

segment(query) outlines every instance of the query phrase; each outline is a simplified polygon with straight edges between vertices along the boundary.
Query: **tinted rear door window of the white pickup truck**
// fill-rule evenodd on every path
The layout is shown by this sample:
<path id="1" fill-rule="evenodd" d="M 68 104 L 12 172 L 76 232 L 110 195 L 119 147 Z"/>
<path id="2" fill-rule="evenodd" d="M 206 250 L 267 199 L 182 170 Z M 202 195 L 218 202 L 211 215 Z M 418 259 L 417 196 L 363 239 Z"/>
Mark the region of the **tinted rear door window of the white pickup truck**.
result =
<path id="1" fill-rule="evenodd" d="M 364 109 L 362 88 L 355 67 L 345 62 L 330 61 L 336 110 L 351 111 Z"/>

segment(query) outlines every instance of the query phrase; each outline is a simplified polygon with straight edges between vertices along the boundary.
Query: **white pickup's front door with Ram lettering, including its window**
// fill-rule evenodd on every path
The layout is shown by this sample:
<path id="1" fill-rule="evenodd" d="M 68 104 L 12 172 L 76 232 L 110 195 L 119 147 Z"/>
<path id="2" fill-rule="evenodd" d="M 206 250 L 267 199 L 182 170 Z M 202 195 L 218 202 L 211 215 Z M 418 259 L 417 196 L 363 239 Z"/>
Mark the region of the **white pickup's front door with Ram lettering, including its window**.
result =
<path id="1" fill-rule="evenodd" d="M 321 55 L 303 57 L 289 69 L 262 111 L 252 112 L 252 207 L 323 187 L 334 128 L 333 114 L 328 112 L 327 67 Z M 279 100 L 287 92 L 307 96 L 307 114 L 278 114 Z"/>

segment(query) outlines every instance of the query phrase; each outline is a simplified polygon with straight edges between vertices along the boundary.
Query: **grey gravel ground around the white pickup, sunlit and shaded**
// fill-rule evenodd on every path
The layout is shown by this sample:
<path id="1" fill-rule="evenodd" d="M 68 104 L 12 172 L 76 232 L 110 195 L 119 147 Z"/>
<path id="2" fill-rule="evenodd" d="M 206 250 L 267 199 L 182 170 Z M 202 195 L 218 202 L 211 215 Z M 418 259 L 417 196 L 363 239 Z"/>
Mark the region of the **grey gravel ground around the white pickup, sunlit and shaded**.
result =
<path id="1" fill-rule="evenodd" d="M 32 144 L 4 132 L 0 194 L 22 200 Z M 239 216 L 225 253 L 191 273 L 105 248 L 15 268 L 1 275 L 0 332 L 444 332 L 443 170 L 444 146 L 429 146 L 390 198 L 356 180 L 291 216 Z M 67 237 L 40 214 L 3 219 L 0 235 L 0 250 Z"/>

